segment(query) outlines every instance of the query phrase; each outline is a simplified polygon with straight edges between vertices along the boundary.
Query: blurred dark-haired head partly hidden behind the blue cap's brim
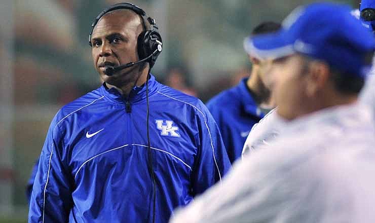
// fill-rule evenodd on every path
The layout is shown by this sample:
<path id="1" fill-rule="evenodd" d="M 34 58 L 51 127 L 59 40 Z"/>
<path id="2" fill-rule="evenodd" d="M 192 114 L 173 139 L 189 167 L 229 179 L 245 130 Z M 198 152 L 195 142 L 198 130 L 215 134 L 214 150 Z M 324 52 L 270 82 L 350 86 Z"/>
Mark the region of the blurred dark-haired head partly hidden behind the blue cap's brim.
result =
<path id="1" fill-rule="evenodd" d="M 262 22 L 252 30 L 251 35 L 248 38 L 246 38 L 244 42 L 244 48 L 248 54 L 249 60 L 252 63 L 253 70 L 256 70 L 256 75 L 259 76 L 262 84 L 264 84 L 265 87 L 269 90 L 272 89 L 272 85 L 273 85 L 273 78 L 269 75 L 269 69 L 270 69 L 270 66 L 272 65 L 272 60 L 260 59 L 256 57 L 255 55 L 253 55 L 251 51 L 248 51 L 246 47 L 246 42 L 253 36 L 276 32 L 280 28 L 281 28 L 280 23 Z"/>

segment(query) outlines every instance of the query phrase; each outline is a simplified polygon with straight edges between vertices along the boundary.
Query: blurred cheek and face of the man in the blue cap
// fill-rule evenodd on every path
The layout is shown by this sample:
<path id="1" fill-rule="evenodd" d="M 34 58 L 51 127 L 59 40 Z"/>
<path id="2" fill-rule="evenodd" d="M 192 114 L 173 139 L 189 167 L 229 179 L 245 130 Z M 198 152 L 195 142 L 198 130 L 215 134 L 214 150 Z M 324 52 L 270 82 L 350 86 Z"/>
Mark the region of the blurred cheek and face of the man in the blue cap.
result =
<path id="1" fill-rule="evenodd" d="M 288 120 L 296 118 L 301 114 L 304 103 L 308 103 L 306 89 L 309 80 L 304 58 L 292 55 L 276 59 L 269 72 L 275 77 L 273 96 L 278 105 L 278 114 Z"/>

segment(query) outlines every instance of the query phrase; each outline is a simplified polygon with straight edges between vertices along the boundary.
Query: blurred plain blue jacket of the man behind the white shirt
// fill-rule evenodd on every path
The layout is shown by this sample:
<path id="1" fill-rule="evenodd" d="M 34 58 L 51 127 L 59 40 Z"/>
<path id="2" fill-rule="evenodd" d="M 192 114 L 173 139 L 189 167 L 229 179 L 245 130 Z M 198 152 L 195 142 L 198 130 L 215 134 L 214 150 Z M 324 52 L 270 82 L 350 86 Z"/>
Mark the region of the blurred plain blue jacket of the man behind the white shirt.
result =
<path id="1" fill-rule="evenodd" d="M 252 126 L 265 116 L 252 98 L 247 80 L 242 79 L 237 86 L 219 93 L 206 104 L 219 126 L 231 163 L 241 157 Z"/>

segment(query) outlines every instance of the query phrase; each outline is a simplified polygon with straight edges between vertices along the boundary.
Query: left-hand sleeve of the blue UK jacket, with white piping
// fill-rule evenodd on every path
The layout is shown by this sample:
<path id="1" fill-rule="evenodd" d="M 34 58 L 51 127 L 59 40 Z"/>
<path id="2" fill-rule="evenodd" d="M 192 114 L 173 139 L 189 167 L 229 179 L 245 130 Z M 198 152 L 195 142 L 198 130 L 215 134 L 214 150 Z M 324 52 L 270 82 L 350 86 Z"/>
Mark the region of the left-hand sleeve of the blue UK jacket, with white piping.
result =
<path id="1" fill-rule="evenodd" d="M 54 122 L 53 122 L 54 123 Z M 63 143 L 58 127 L 51 124 L 37 166 L 28 222 L 67 222 L 73 205 L 72 179 L 63 165 Z M 56 126 L 56 125 L 55 125 Z"/>

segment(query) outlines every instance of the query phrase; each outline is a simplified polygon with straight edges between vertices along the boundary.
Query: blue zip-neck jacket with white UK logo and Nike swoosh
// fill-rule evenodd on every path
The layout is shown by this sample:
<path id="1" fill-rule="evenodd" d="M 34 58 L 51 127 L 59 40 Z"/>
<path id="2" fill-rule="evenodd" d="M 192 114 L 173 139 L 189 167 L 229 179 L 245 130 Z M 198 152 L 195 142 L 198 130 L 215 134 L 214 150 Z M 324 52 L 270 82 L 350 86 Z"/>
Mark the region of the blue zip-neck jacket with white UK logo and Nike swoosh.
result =
<path id="1" fill-rule="evenodd" d="M 148 86 L 155 222 L 168 222 L 174 208 L 221 181 L 230 162 L 199 99 L 153 76 Z M 37 168 L 29 222 L 152 221 L 145 87 L 129 98 L 103 85 L 57 113 Z"/>

